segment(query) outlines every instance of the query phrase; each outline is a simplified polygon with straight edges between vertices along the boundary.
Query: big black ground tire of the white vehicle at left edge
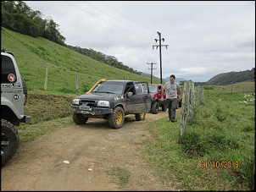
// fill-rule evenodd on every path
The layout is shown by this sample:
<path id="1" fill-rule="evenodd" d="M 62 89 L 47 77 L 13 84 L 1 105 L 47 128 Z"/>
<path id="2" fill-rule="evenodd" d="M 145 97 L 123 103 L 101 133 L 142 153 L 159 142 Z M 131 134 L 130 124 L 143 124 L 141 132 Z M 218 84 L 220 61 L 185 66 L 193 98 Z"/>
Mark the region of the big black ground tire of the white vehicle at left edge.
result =
<path id="1" fill-rule="evenodd" d="M 19 147 L 18 130 L 13 123 L 1 119 L 2 136 L 1 136 L 1 156 L 2 167 L 11 159 Z"/>

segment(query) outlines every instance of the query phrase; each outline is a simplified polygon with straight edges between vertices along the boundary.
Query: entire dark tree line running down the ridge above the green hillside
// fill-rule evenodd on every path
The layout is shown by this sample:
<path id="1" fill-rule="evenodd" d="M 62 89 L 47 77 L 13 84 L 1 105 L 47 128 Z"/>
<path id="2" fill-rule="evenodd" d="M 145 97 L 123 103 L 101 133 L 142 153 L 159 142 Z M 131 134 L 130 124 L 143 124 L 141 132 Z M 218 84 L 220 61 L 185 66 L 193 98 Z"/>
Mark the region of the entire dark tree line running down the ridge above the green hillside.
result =
<path id="1" fill-rule="evenodd" d="M 80 52 L 87 57 L 93 58 L 99 62 L 109 64 L 115 68 L 123 69 L 134 74 L 140 72 L 119 62 L 114 56 L 108 56 L 102 52 L 97 52 L 81 47 L 72 47 L 65 44 L 65 37 L 59 32 L 59 25 L 53 19 L 42 19 L 40 11 L 32 10 L 22 1 L 3 1 L 1 7 L 2 26 L 8 30 L 24 34 L 26 36 L 42 37 L 49 41 L 58 43 L 61 46 L 68 47 L 75 52 Z"/>

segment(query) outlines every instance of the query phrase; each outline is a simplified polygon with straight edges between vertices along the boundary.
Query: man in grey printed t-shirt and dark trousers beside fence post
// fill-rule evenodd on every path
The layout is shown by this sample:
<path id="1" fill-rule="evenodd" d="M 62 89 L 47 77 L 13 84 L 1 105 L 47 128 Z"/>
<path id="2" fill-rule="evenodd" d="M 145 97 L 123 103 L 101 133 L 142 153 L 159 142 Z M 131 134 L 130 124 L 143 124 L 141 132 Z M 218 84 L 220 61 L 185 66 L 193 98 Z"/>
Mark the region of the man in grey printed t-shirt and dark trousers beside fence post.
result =
<path id="1" fill-rule="evenodd" d="M 175 82 L 175 75 L 170 75 L 170 81 L 164 84 L 161 91 L 161 101 L 164 101 L 164 91 L 166 92 L 166 102 L 168 104 L 169 121 L 177 122 L 175 120 L 176 107 L 178 105 L 178 95 L 181 95 L 181 86 Z"/>

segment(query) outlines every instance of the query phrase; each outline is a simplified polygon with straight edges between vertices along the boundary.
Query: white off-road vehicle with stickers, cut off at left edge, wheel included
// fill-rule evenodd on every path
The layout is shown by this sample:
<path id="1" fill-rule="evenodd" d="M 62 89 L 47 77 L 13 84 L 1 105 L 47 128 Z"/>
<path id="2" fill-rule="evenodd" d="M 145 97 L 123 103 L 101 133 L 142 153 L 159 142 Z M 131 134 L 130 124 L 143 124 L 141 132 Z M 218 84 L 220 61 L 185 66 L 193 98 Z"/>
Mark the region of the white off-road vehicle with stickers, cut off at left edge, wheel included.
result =
<path id="1" fill-rule="evenodd" d="M 19 74 L 14 54 L 1 50 L 1 58 L 1 156 L 3 167 L 19 147 L 19 134 L 16 126 L 19 126 L 20 122 L 30 123 L 31 117 L 24 114 L 27 88 L 25 80 Z"/>

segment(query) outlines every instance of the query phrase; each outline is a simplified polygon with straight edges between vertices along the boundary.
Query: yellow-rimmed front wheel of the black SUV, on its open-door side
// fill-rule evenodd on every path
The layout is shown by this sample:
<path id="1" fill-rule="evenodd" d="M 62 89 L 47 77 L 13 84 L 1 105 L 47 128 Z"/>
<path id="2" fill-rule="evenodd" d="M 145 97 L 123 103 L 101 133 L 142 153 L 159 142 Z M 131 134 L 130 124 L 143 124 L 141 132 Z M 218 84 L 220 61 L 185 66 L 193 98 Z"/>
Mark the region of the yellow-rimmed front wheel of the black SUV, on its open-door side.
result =
<path id="1" fill-rule="evenodd" d="M 113 112 L 109 114 L 109 127 L 120 129 L 125 121 L 125 112 L 122 107 L 115 107 Z"/>

